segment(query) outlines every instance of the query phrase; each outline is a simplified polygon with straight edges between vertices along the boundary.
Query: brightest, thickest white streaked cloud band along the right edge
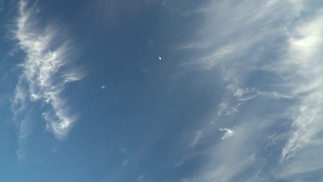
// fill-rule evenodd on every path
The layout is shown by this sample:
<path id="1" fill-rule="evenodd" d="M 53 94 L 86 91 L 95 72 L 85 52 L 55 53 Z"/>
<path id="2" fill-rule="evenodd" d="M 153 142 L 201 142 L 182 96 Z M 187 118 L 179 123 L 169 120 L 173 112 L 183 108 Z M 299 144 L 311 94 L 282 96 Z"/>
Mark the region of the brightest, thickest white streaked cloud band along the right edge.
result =
<path id="1" fill-rule="evenodd" d="M 306 167 L 306 163 L 309 163 L 307 160 L 323 152 L 320 150 L 320 147 L 323 147 L 320 141 L 320 133 L 323 132 L 322 21 L 323 10 L 319 10 L 314 16 L 297 26 L 291 33 L 284 62 L 277 63 L 277 66 L 285 66 L 277 72 L 289 73 L 288 79 L 282 84 L 286 84 L 285 87 L 290 90 L 289 94 L 296 100 L 295 105 L 291 106 L 288 112 L 288 117 L 293 120 L 293 134 L 283 148 L 281 157 L 283 164 L 294 167 L 285 169 L 282 172 L 283 176 L 323 168 L 322 158 L 312 163 L 311 168 Z M 293 70 L 287 70 L 288 67 Z"/>

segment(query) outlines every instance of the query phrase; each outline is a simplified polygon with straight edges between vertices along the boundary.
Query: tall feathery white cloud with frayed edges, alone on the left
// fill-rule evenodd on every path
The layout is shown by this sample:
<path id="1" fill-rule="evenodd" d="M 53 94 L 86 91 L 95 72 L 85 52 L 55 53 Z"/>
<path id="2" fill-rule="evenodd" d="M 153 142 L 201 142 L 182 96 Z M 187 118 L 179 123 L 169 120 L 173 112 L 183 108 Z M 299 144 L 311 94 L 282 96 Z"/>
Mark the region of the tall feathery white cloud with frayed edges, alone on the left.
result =
<path id="1" fill-rule="evenodd" d="M 19 1 L 16 28 L 11 31 L 25 56 L 19 65 L 21 75 L 12 111 L 18 118 L 25 114 L 30 103 L 41 102 L 47 108 L 42 113 L 47 130 L 57 139 L 64 139 L 77 116 L 70 114 L 61 93 L 67 83 L 79 81 L 84 75 L 77 68 L 69 69 L 73 49 L 69 41 L 60 38 L 66 36 L 63 31 L 53 23 L 41 28 L 37 13 L 28 1 Z"/>

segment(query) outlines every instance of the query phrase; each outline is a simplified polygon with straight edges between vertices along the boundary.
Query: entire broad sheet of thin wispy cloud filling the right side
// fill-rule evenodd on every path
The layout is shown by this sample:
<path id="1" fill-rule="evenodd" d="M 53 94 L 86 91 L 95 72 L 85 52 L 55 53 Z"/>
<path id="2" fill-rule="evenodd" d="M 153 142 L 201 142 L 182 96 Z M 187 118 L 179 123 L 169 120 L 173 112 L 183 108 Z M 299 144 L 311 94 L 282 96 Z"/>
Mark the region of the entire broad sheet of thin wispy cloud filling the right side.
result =
<path id="1" fill-rule="evenodd" d="M 210 0 L 208 7 L 197 36 L 177 50 L 199 55 L 182 66 L 224 70 L 230 92 L 213 124 L 227 123 L 222 139 L 235 137 L 208 145 L 208 162 L 182 181 L 322 179 L 322 3 Z M 232 108 L 239 114 L 228 118 Z"/>

